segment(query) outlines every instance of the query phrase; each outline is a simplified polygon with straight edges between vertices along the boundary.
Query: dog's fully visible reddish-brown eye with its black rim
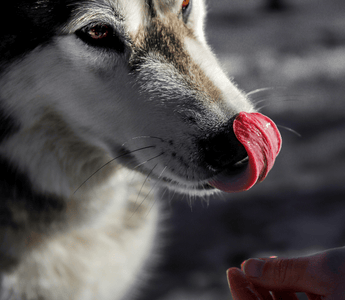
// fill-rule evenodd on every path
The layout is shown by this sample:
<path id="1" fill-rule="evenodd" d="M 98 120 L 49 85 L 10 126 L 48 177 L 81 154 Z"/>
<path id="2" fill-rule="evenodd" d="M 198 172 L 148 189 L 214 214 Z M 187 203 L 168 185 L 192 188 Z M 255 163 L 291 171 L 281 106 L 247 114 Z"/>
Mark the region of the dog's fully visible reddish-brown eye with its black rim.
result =
<path id="1" fill-rule="evenodd" d="M 78 30 L 76 35 L 86 44 L 96 48 L 111 49 L 119 53 L 123 53 L 126 48 L 117 32 L 106 24 L 85 26 Z"/>

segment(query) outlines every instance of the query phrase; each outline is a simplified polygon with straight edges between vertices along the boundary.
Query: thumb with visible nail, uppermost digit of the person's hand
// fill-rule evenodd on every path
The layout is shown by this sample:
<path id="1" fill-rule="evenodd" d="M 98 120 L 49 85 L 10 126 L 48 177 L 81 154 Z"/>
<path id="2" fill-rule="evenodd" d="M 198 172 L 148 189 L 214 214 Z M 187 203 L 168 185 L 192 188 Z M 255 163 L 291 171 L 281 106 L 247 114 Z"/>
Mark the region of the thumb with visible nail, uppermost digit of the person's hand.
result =
<path id="1" fill-rule="evenodd" d="M 247 278 L 268 290 L 290 290 L 329 295 L 337 284 L 325 268 L 325 253 L 299 258 L 249 259 L 242 264 Z"/>

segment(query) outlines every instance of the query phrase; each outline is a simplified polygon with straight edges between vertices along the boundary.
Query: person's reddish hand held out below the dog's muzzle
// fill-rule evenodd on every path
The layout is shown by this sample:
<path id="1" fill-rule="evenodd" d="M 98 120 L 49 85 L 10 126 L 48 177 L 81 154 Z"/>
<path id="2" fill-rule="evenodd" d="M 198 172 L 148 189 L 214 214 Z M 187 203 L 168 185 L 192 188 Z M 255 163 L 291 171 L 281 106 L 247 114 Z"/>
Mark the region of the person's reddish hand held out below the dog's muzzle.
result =
<path id="1" fill-rule="evenodd" d="M 246 260 L 227 271 L 234 300 L 345 300 L 345 247 L 298 258 Z"/>

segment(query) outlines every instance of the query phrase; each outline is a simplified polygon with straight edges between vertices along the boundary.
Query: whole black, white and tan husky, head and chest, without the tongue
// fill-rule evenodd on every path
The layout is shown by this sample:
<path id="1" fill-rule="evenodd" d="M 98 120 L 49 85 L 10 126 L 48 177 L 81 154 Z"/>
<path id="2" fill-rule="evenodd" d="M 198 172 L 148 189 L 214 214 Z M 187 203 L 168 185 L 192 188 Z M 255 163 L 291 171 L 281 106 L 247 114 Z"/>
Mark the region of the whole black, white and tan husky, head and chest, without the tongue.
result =
<path id="1" fill-rule="evenodd" d="M 247 156 L 231 124 L 253 105 L 206 43 L 204 0 L 10 0 L 0 15 L 0 299 L 129 299 L 158 191 L 214 193 Z"/>

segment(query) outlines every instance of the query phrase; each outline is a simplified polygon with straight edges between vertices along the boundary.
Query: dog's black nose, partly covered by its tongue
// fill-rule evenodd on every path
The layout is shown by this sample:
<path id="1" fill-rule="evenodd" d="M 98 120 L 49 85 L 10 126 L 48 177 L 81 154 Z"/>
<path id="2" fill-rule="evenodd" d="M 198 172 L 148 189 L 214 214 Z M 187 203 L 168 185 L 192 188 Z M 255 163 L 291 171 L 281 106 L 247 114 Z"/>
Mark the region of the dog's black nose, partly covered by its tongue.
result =
<path id="1" fill-rule="evenodd" d="M 200 141 L 204 163 L 213 171 L 229 168 L 247 157 L 243 145 L 237 140 L 233 122 L 236 116 L 217 130 L 206 134 Z"/>

